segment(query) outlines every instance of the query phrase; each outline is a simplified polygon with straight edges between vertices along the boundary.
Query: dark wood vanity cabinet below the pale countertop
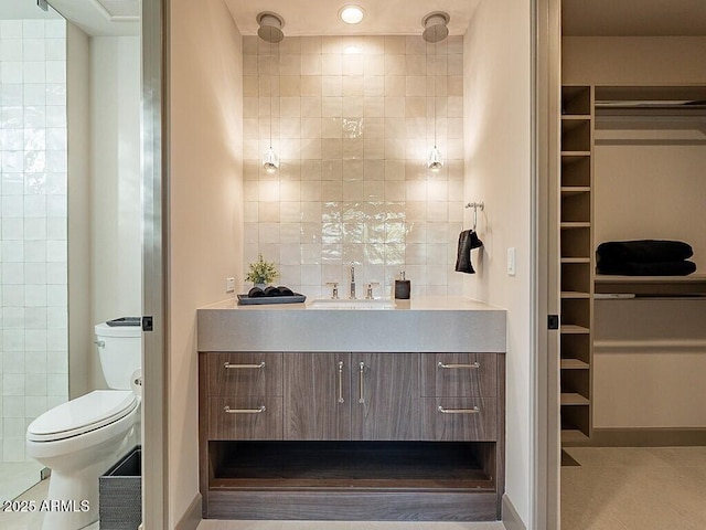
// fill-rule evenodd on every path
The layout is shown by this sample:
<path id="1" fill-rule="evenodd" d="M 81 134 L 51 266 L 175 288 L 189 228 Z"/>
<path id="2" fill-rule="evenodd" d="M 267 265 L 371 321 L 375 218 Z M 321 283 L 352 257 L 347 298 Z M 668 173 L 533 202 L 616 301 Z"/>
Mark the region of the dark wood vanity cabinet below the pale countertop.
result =
<path id="1" fill-rule="evenodd" d="M 202 352 L 204 518 L 495 520 L 501 353 Z"/>

